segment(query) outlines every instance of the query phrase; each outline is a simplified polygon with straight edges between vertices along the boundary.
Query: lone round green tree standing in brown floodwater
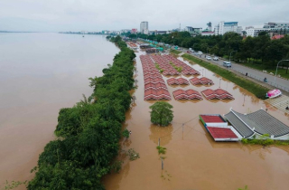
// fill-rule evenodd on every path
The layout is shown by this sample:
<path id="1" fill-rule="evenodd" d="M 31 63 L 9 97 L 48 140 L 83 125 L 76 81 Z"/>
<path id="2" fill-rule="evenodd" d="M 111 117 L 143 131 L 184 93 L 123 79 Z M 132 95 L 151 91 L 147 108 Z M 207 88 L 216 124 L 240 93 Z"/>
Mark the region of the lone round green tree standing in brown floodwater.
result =
<path id="1" fill-rule="evenodd" d="M 150 109 L 152 109 L 152 111 L 150 111 L 152 123 L 160 126 L 168 126 L 173 119 L 172 108 L 172 105 L 167 102 L 155 102 L 154 105 L 150 106 Z"/>

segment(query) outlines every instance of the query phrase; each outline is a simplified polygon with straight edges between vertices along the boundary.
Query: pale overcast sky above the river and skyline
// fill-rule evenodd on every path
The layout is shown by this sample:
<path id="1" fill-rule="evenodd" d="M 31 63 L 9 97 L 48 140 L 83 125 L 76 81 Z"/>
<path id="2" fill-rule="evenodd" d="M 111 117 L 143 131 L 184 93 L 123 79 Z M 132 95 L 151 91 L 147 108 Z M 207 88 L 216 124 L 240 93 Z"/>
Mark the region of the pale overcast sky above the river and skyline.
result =
<path id="1" fill-rule="evenodd" d="M 0 0 L 0 31 L 149 30 L 289 22 L 289 0 Z"/>

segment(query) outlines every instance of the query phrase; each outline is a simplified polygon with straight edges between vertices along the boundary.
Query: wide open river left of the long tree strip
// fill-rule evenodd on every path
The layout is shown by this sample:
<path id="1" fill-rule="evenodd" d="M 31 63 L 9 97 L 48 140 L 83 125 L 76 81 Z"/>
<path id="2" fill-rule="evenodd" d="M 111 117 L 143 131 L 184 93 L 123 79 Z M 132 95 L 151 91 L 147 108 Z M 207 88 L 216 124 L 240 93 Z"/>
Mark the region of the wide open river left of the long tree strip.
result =
<path id="1" fill-rule="evenodd" d="M 89 97 L 117 52 L 101 35 L 0 33 L 0 189 L 33 177 L 59 110 Z"/>

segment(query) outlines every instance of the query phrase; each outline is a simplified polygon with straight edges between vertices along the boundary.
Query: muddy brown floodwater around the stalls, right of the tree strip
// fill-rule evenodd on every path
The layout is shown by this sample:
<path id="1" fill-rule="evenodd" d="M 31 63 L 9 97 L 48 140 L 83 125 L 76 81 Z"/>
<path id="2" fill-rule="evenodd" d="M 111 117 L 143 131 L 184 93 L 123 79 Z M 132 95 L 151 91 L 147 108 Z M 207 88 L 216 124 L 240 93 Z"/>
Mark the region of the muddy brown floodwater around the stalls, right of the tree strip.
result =
<path id="1" fill-rule="evenodd" d="M 289 124 L 289 116 L 266 105 L 247 90 L 227 81 L 211 71 L 191 65 L 200 71 L 214 85 L 208 86 L 169 86 L 173 90 L 192 89 L 228 90 L 235 100 L 172 100 L 174 118 L 172 125 L 157 127 L 150 122 L 149 107 L 155 101 L 144 101 L 144 77 L 137 52 L 135 79 L 138 88 L 134 93 L 136 100 L 126 113 L 124 127 L 132 131 L 128 139 L 120 141 L 118 159 L 124 164 L 119 174 L 111 174 L 103 179 L 107 190 L 233 190 L 280 189 L 289 188 L 289 147 L 262 147 L 242 145 L 239 142 L 214 142 L 199 120 L 199 114 L 226 114 L 232 108 L 240 113 L 250 113 L 257 109 L 268 112 Z M 182 60 L 182 58 L 179 58 Z M 183 60 L 182 60 L 183 61 Z M 189 64 L 189 62 L 186 62 Z M 185 76 L 182 76 L 185 77 Z M 187 78 L 187 77 L 185 77 Z M 164 81 L 168 77 L 163 77 Z M 187 79 L 191 79 L 188 77 Z M 183 127 L 182 127 L 183 126 Z M 167 148 L 162 161 L 156 146 L 160 138 L 161 146 Z M 140 158 L 129 161 L 125 151 L 134 148 Z"/>

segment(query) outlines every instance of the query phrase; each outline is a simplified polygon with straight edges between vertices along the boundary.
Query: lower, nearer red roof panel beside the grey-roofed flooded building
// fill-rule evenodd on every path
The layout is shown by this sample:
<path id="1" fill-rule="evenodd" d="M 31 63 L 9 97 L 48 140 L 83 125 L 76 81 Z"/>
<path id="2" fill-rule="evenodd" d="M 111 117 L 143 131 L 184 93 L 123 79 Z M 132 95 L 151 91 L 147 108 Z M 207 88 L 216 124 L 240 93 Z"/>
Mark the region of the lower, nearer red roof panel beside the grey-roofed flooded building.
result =
<path id="1" fill-rule="evenodd" d="M 238 136 L 230 128 L 207 128 L 215 141 L 238 141 Z"/>

